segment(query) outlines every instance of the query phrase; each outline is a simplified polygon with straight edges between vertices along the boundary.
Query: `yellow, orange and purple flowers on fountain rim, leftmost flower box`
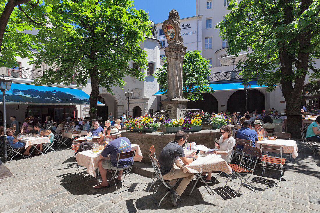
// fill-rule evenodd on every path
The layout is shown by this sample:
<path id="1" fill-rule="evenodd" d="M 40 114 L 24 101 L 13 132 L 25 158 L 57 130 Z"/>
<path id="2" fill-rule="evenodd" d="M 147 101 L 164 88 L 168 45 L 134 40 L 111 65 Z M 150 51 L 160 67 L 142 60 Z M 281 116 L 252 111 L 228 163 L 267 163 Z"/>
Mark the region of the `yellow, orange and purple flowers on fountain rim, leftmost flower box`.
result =
<path id="1" fill-rule="evenodd" d="M 124 125 L 126 125 L 128 129 L 132 131 L 133 129 L 142 130 L 152 129 L 154 127 L 158 128 L 160 127 L 161 123 L 154 122 L 149 114 L 145 114 L 139 118 L 127 119 L 126 122 L 124 122 Z"/>

